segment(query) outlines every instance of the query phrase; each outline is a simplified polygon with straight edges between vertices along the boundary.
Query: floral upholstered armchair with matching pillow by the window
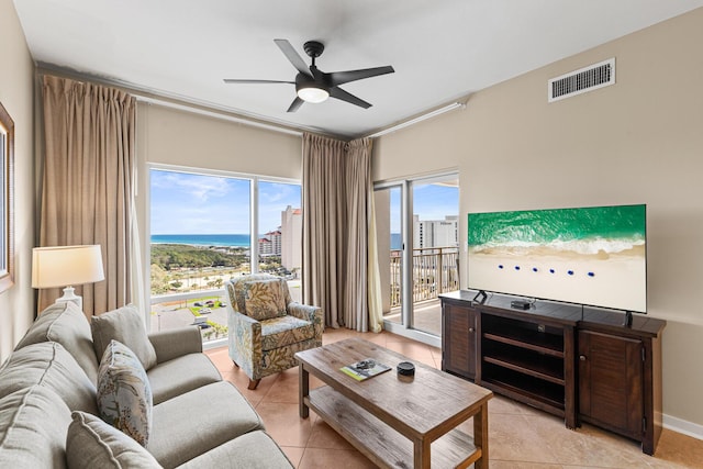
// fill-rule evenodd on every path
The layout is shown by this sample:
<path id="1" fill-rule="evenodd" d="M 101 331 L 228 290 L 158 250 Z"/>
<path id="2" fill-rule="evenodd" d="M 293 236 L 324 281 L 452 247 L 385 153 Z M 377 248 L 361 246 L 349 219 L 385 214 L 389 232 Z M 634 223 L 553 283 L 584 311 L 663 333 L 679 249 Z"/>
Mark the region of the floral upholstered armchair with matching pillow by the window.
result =
<path id="1" fill-rule="evenodd" d="M 293 302 L 286 279 L 266 273 L 225 282 L 230 358 L 249 377 L 298 366 L 295 353 L 322 345 L 322 309 Z"/>

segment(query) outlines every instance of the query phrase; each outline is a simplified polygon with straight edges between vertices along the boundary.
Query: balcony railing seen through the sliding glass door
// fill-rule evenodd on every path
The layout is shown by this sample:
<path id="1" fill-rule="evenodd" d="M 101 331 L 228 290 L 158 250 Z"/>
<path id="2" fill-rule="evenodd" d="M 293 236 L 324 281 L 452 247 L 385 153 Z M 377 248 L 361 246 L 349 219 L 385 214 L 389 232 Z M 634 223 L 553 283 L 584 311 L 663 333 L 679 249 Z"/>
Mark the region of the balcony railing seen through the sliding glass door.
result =
<path id="1" fill-rule="evenodd" d="M 413 249 L 413 302 L 432 300 L 459 289 L 459 249 L 425 247 Z M 402 257 L 391 250 L 391 308 L 401 305 Z"/>

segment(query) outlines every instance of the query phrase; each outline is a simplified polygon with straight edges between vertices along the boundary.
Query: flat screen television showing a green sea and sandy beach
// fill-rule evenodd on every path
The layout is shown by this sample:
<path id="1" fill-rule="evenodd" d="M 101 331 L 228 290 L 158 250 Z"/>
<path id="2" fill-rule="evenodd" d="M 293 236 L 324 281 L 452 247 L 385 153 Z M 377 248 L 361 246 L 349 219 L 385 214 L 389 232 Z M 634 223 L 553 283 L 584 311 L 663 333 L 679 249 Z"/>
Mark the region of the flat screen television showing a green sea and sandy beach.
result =
<path id="1" fill-rule="evenodd" d="M 646 205 L 468 214 L 468 287 L 647 312 Z"/>

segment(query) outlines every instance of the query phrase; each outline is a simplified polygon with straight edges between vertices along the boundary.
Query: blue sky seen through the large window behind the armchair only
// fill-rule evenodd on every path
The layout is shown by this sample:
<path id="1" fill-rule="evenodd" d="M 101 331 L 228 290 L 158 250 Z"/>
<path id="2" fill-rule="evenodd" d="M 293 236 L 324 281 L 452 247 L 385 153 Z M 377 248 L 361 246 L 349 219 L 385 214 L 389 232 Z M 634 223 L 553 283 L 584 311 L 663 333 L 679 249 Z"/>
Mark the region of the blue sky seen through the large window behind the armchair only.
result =
<path id="1" fill-rule="evenodd" d="M 222 176 L 150 171 L 152 234 L 248 234 L 252 181 Z M 259 234 L 300 208 L 299 185 L 259 181 Z"/>

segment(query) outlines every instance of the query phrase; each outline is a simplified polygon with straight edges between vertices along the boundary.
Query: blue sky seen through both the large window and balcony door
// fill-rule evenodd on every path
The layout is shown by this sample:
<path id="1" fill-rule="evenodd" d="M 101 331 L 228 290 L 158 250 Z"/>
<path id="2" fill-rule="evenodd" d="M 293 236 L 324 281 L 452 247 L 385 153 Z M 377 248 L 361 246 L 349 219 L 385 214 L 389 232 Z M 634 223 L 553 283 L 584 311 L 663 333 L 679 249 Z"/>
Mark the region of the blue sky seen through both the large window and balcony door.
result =
<path id="1" fill-rule="evenodd" d="M 153 169 L 152 234 L 248 234 L 250 183 L 248 179 Z M 413 187 L 413 213 L 420 220 L 459 214 L 458 188 Z M 391 232 L 400 233 L 400 189 L 390 190 Z M 279 227 L 288 205 L 301 206 L 299 185 L 259 181 L 259 234 Z"/>

